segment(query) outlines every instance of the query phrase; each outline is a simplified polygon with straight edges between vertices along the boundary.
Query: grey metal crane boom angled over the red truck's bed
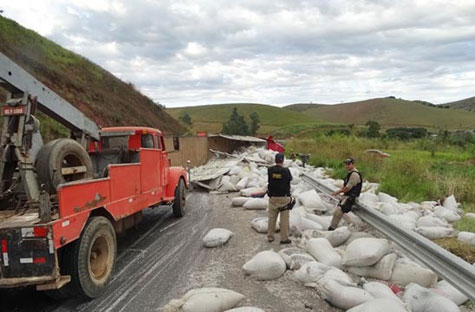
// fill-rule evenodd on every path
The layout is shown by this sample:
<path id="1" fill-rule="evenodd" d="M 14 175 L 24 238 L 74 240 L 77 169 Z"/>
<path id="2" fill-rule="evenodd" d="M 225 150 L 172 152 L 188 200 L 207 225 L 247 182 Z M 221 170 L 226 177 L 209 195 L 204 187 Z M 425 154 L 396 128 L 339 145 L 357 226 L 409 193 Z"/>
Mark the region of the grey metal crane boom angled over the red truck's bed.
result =
<path id="1" fill-rule="evenodd" d="M 99 140 L 99 127 L 94 121 L 2 53 L 0 53 L 0 86 L 11 93 L 28 92 L 36 96 L 41 112 L 73 131 L 81 131 L 92 139 Z"/>

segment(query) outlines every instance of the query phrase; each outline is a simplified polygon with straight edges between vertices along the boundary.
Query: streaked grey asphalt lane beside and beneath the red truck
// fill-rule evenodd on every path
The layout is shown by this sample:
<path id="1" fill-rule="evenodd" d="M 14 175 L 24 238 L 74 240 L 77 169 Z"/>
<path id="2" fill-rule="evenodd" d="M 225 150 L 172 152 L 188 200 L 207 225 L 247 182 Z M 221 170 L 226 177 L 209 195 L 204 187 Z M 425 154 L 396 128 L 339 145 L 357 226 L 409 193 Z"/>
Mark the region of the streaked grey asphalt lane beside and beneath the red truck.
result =
<path id="1" fill-rule="evenodd" d="M 167 206 L 146 209 L 144 221 L 118 238 L 114 278 L 100 298 L 55 301 L 33 288 L 0 290 L 0 311 L 157 311 L 186 285 L 203 252 L 208 201 L 207 193 L 188 194 L 181 219 Z"/>

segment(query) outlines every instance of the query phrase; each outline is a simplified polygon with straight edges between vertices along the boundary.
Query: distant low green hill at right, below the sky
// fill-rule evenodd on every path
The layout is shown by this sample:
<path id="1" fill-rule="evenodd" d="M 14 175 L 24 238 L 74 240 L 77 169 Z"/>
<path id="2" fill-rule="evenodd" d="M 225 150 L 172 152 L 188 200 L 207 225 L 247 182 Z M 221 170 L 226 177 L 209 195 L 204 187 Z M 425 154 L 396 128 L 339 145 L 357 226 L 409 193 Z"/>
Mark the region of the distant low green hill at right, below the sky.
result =
<path id="1" fill-rule="evenodd" d="M 320 121 L 356 125 L 375 120 L 384 127 L 475 128 L 475 112 L 431 107 L 421 102 L 393 98 L 324 105 L 302 113 Z"/>

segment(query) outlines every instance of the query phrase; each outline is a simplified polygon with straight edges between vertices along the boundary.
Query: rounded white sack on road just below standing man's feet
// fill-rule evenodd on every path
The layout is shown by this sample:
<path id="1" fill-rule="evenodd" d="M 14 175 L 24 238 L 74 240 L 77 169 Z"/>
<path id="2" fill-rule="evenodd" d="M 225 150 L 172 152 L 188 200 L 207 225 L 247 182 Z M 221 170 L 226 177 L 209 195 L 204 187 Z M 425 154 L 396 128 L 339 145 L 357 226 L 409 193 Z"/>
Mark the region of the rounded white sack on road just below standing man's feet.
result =
<path id="1" fill-rule="evenodd" d="M 254 256 L 242 267 L 246 275 L 250 275 L 257 280 L 273 280 L 284 274 L 285 261 L 278 253 L 268 250 L 262 251 Z"/>

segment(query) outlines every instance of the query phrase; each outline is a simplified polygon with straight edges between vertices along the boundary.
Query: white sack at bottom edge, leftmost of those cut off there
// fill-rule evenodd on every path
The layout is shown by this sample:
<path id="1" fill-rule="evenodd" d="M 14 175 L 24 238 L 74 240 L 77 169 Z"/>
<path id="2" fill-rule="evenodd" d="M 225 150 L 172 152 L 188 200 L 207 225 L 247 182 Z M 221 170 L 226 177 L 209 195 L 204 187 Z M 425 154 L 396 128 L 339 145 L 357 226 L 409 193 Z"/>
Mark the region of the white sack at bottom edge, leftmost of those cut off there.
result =
<path id="1" fill-rule="evenodd" d="M 237 306 L 244 296 L 223 288 L 192 289 L 178 300 L 172 300 L 163 312 L 221 312 Z"/>

